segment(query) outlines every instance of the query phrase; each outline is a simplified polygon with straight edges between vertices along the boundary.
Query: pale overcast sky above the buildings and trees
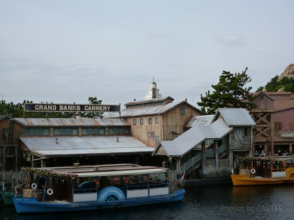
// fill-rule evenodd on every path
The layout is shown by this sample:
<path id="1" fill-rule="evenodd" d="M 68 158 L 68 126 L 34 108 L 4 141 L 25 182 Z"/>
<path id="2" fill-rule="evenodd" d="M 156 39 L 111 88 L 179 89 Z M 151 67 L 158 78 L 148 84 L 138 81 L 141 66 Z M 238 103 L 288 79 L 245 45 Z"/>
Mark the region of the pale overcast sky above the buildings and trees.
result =
<path id="1" fill-rule="evenodd" d="M 0 0 L 0 95 L 123 106 L 154 77 L 163 97 L 198 107 L 223 70 L 245 67 L 255 92 L 294 62 L 293 11 L 293 0 Z"/>

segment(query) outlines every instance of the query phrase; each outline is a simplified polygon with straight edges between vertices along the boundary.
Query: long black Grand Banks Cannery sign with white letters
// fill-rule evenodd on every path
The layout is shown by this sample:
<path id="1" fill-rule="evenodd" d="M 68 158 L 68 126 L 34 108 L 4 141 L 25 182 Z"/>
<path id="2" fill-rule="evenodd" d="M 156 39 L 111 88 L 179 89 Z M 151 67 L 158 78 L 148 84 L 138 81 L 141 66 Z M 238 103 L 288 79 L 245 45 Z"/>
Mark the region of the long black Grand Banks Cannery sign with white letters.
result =
<path id="1" fill-rule="evenodd" d="M 119 112 L 120 105 L 24 103 L 24 111 Z"/>

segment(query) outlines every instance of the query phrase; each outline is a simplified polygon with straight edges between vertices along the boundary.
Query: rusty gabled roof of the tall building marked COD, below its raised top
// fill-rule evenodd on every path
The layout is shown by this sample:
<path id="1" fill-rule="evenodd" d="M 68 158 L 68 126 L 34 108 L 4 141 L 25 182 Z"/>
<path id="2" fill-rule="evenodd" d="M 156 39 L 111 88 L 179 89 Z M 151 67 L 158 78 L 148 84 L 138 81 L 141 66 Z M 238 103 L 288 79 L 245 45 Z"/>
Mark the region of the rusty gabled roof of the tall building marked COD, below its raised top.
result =
<path id="1" fill-rule="evenodd" d="M 202 111 L 200 111 L 196 107 L 192 106 L 191 104 L 189 104 L 185 101 L 179 101 L 179 102 L 171 102 L 171 103 L 168 103 L 165 105 L 148 106 L 148 107 L 134 108 L 134 109 L 123 109 L 121 111 L 121 118 L 164 114 L 167 111 L 169 111 L 169 110 L 171 110 L 181 104 L 186 104 L 188 106 L 191 106 L 193 109 L 203 113 Z M 108 116 L 105 116 L 104 118 L 119 118 L 119 113 L 116 112 L 113 114 L 109 114 Z"/>

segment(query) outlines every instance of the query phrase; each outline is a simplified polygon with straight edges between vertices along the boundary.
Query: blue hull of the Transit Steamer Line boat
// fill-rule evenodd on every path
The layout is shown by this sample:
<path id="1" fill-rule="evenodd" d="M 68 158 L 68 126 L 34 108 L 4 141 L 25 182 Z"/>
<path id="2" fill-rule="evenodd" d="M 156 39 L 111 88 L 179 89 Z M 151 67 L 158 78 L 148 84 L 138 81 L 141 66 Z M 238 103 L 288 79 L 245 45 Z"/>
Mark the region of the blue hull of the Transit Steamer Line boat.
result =
<path id="1" fill-rule="evenodd" d="M 181 189 L 173 192 L 173 194 L 137 198 L 137 199 L 123 199 L 116 201 L 103 202 L 80 202 L 80 203 L 62 203 L 62 202 L 38 202 L 36 198 L 12 198 L 17 213 L 35 213 L 35 212 L 64 212 L 64 211 L 86 211 L 97 209 L 113 209 L 116 207 L 132 207 L 142 205 L 152 205 L 167 202 L 177 202 L 183 200 L 186 191 Z"/>

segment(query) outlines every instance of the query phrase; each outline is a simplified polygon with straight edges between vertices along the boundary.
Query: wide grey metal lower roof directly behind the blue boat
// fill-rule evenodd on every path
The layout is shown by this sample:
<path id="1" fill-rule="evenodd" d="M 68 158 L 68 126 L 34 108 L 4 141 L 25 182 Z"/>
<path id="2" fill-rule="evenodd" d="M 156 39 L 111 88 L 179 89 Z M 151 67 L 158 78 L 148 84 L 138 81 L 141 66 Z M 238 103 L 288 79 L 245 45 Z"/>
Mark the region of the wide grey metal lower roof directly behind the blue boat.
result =
<path id="1" fill-rule="evenodd" d="M 89 155 L 115 153 L 152 153 L 149 148 L 131 136 L 99 137 L 58 137 L 55 138 L 20 138 L 26 147 L 33 153 L 46 156 L 61 155 Z"/>

